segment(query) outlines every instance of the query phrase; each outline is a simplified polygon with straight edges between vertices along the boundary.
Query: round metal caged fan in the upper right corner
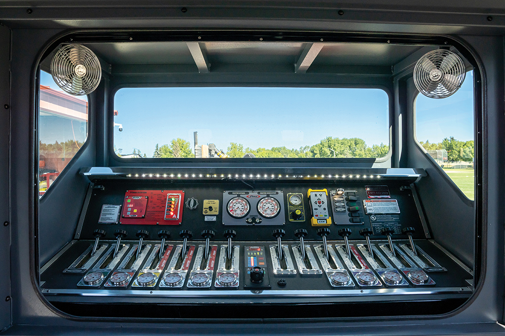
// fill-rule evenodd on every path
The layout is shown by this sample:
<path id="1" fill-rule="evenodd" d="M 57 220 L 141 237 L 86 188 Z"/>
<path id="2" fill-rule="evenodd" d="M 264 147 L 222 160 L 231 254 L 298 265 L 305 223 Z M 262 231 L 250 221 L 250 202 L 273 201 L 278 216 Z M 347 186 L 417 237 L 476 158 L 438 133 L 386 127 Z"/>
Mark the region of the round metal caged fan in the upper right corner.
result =
<path id="1" fill-rule="evenodd" d="M 437 49 L 424 54 L 414 68 L 414 84 L 426 97 L 447 98 L 465 80 L 465 63 L 456 53 Z"/>

